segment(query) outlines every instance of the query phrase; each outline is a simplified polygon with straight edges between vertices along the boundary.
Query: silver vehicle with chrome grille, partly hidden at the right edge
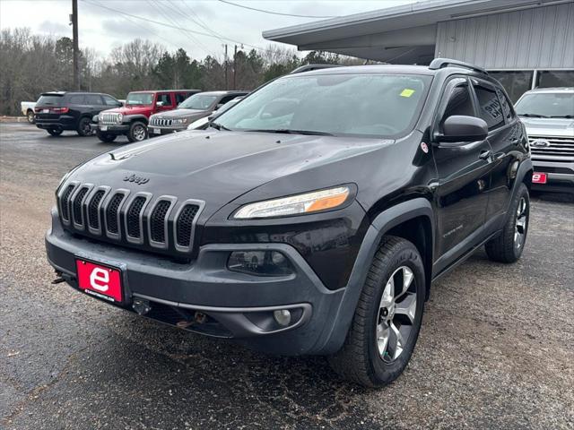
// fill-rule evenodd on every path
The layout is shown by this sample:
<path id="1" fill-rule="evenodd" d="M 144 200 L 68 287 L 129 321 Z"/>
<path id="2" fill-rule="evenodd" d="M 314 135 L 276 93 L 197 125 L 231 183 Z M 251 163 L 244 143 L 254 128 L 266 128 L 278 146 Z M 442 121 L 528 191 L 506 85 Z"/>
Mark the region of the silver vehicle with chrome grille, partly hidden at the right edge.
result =
<path id="1" fill-rule="evenodd" d="M 533 188 L 574 193 L 574 88 L 526 91 L 515 108 L 528 133 Z"/>

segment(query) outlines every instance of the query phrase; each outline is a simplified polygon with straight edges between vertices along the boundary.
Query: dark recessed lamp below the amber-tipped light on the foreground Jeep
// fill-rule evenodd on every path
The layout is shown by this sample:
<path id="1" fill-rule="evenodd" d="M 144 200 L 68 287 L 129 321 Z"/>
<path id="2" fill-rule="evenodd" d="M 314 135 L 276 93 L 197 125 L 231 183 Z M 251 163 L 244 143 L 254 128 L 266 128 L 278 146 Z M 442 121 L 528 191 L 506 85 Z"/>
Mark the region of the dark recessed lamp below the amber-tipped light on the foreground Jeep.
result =
<path id="1" fill-rule="evenodd" d="M 234 251 L 227 261 L 230 271 L 257 276 L 282 276 L 292 273 L 291 263 L 278 251 Z"/>

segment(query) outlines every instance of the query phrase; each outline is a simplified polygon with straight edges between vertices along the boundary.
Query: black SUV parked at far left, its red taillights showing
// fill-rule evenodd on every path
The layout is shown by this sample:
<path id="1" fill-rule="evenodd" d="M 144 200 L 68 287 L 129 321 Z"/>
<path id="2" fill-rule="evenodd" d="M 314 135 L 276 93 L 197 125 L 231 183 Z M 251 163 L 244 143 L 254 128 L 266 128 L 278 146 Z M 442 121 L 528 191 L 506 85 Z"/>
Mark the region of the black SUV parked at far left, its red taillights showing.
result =
<path id="1" fill-rule="evenodd" d="M 74 130 L 87 136 L 91 134 L 92 116 L 101 110 L 120 106 L 120 101 L 99 92 L 45 92 L 34 108 L 36 126 L 52 136 L 59 136 L 64 130 Z"/>

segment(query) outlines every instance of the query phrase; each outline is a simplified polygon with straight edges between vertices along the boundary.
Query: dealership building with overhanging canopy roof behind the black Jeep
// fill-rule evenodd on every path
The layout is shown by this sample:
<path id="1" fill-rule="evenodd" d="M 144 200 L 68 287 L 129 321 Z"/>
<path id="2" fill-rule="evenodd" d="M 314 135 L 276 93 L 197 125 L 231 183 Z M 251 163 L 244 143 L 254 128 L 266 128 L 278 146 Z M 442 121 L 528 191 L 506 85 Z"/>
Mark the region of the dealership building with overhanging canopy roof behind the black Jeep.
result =
<path id="1" fill-rule="evenodd" d="M 462 60 L 491 72 L 513 101 L 536 87 L 574 87 L 574 0 L 422 1 L 263 37 L 391 64 Z"/>

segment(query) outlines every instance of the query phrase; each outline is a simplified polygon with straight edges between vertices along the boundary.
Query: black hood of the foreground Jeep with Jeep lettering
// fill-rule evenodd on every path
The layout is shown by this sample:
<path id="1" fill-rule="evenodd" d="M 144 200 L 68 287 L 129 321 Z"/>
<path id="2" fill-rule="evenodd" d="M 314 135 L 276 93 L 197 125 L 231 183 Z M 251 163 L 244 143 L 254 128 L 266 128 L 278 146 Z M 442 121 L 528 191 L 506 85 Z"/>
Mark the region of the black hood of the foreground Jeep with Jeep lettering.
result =
<path id="1" fill-rule="evenodd" d="M 278 177 L 325 167 L 392 142 L 298 134 L 186 131 L 101 154 L 75 170 L 70 180 L 127 188 L 133 193 L 199 199 L 206 202 L 205 211 L 213 213 L 241 194 Z M 321 176 L 334 176 L 332 185 L 336 185 L 336 171 L 327 166 L 321 170 Z M 315 187 L 319 186 L 309 184 L 309 189 Z"/>

